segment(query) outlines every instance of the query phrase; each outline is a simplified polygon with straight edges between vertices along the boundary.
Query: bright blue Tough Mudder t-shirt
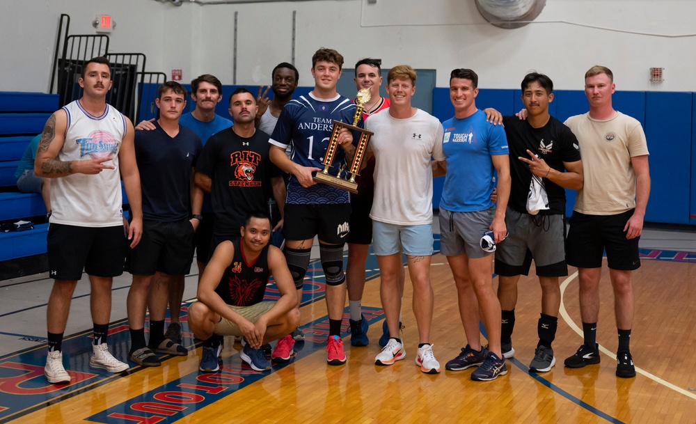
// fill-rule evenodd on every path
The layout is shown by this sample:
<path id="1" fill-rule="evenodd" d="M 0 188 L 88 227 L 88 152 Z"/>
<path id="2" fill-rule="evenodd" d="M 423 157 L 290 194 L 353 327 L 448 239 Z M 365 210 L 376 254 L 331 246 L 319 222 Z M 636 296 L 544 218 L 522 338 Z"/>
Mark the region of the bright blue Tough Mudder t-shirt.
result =
<path id="1" fill-rule="evenodd" d="M 491 155 L 508 154 L 503 125 L 488 123 L 486 113 L 477 110 L 467 118 L 445 120 L 443 127 L 447 173 L 440 207 L 450 212 L 489 209 L 496 184 Z"/>

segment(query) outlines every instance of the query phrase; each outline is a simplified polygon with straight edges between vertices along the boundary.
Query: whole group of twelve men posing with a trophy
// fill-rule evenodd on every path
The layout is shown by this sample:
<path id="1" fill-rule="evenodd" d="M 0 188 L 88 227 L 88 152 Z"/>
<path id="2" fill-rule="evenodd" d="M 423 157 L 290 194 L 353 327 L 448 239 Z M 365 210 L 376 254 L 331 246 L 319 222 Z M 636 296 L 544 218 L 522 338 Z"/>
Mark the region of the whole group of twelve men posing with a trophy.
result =
<path id="1" fill-rule="evenodd" d="M 48 240 L 49 267 L 56 280 L 48 308 L 49 382 L 70 382 L 61 342 L 83 267 L 90 277 L 95 331 L 90 366 L 110 372 L 128 368 L 106 348 L 111 279 L 122 273 L 124 228 L 130 248 L 125 269 L 133 274 L 127 300 L 132 340 L 128 359 L 138 365 L 158 366 L 156 353 L 187 354 L 180 345 L 178 317 L 194 245 L 198 301 L 189 306 L 188 322 L 203 340 L 200 370 L 219 370 L 226 335 L 242 337 L 242 359 L 254 370 L 269 369 L 271 361 L 290 361 L 294 344 L 303 340 L 298 328 L 302 284 L 318 236 L 329 313 L 327 362 L 346 361 L 341 338 L 346 292 L 351 345 L 369 343 L 361 297 L 372 242 L 386 316 L 375 363 L 388 366 L 406 356 L 400 333 L 405 253 L 418 324 L 415 361 L 422 372 L 440 372 L 430 343 L 434 293 L 429 278 L 432 180 L 440 175 L 445 175 L 438 216 L 441 253 L 452 269 L 466 335 L 466 346 L 445 368 L 476 366 L 470 377 L 479 381 L 507 373 L 505 359 L 514 354 L 517 282 L 521 274 L 528 274 L 532 259 L 542 297 L 539 343 L 530 370 L 546 372 L 555 364 L 551 344 L 560 306 L 558 277 L 567 275 L 567 264 L 578 267 L 580 274 L 585 340 L 564 364 L 580 368 L 599 363 L 596 321 L 606 250 L 619 331 L 616 373 L 635 376 L 628 348 L 631 271 L 640 266 L 638 238 L 650 184 L 648 152 L 640 123 L 612 108 L 611 71 L 601 66 L 587 71 L 590 112 L 564 125 L 548 113 L 553 83 L 546 75 L 532 72 L 522 81 L 525 109 L 519 115 L 525 119 L 501 118 L 493 109 L 477 109 L 477 74 L 456 69 L 450 74 L 454 117 L 441 124 L 412 106 L 413 68 L 391 68 L 389 97 L 383 98 L 379 61 L 358 61 L 356 87 L 372 94 L 358 126 L 369 128 L 374 136 L 358 195 L 349 196 L 313 178 L 323 168 L 331 123 L 352 122 L 356 113 L 354 101 L 336 91 L 342 65 L 338 52 L 319 49 L 311 69 L 313 91 L 292 99 L 299 73 L 289 63 L 280 63 L 272 73 L 272 100 L 266 97 L 268 88 L 256 97 L 245 88 L 232 93 L 232 121 L 214 113 L 221 84 L 212 75 L 192 81 L 196 108 L 183 116 L 187 93 L 169 81 L 159 88 L 159 118 L 140 123 L 134 131 L 129 120 L 105 102 L 111 88 L 109 63 L 104 58 L 86 63 L 79 80 L 84 95 L 49 118 L 35 160 L 36 175 L 56 178 Z M 347 128 L 339 132 L 340 148 L 333 159 L 337 170 L 354 157 L 357 139 L 358 134 Z M 121 222 L 117 170 L 129 199 L 130 222 Z M 526 207 L 533 177 L 548 198 L 538 213 Z M 566 188 L 578 190 L 567 238 Z M 210 193 L 207 207 L 204 193 Z M 277 222 L 264 212 L 269 198 L 278 205 Z M 269 243 L 281 227 L 283 251 Z M 480 240 L 489 231 L 495 249 L 482 249 Z M 271 275 L 280 298 L 262 301 Z M 167 305 L 171 324 L 165 333 Z M 149 343 L 144 333 L 147 308 Z M 487 332 L 486 346 L 480 342 L 480 320 Z M 269 360 L 267 344 L 273 340 L 278 341 Z"/>

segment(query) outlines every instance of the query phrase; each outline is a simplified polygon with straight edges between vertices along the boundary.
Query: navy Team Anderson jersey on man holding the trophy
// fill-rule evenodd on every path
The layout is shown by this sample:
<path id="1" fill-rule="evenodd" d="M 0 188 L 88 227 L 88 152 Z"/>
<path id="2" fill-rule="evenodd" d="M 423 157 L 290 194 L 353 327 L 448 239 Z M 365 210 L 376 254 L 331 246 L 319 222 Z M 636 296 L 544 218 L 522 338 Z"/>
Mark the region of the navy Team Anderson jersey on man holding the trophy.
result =
<path id="1" fill-rule="evenodd" d="M 278 123 L 269 143 L 279 148 L 292 144 L 292 159 L 301 166 L 313 166 L 324 169 L 324 154 L 329 147 L 329 138 L 333 129 L 333 120 L 352 125 L 356 106 L 348 98 L 337 95 L 333 99 L 319 99 L 309 93 L 298 99 L 290 100 L 280 112 Z M 363 127 L 361 117 L 358 127 Z M 357 143 L 359 134 L 353 134 Z M 345 152 L 338 146 L 333 156 L 331 175 L 338 173 L 338 166 L 346 163 Z M 346 171 L 342 172 L 345 177 Z M 294 204 L 349 203 L 349 192 L 336 189 L 326 184 L 302 187 L 294 175 L 287 183 L 287 201 Z"/>

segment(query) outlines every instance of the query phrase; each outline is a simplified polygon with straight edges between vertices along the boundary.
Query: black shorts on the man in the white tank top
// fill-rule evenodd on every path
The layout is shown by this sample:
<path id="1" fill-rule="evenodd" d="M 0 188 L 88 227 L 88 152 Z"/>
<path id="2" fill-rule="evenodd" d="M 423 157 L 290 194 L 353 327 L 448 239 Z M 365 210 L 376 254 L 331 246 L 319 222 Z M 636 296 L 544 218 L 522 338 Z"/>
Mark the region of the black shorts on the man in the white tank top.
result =
<path id="1" fill-rule="evenodd" d="M 48 228 L 49 276 L 77 281 L 82 270 L 97 277 L 123 274 L 127 249 L 123 226 L 78 227 L 52 223 Z"/>

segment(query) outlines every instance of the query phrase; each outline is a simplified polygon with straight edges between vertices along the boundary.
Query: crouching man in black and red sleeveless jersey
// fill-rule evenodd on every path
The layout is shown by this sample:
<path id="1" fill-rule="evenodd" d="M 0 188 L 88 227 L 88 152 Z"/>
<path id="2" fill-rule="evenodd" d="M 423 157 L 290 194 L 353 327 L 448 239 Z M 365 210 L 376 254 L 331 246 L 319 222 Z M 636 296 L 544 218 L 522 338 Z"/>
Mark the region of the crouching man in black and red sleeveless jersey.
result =
<path id="1" fill-rule="evenodd" d="M 299 324 L 295 286 L 285 257 L 269 245 L 271 222 L 264 212 L 250 212 L 242 237 L 219 244 L 198 284 L 198 301 L 189 307 L 189 327 L 204 340 L 200 370 L 219 370 L 223 336 L 243 336 L 242 359 L 253 370 L 271 366 L 262 345 L 289 334 Z M 269 276 L 280 292 L 263 301 Z M 285 343 L 284 338 L 278 343 Z M 294 343 L 274 351 L 274 361 L 289 361 Z M 276 352 L 278 351 L 278 352 Z"/>

